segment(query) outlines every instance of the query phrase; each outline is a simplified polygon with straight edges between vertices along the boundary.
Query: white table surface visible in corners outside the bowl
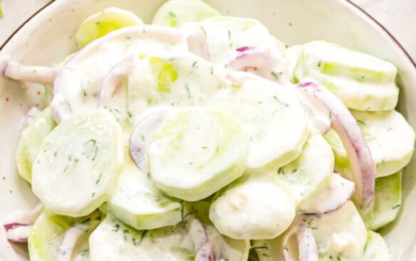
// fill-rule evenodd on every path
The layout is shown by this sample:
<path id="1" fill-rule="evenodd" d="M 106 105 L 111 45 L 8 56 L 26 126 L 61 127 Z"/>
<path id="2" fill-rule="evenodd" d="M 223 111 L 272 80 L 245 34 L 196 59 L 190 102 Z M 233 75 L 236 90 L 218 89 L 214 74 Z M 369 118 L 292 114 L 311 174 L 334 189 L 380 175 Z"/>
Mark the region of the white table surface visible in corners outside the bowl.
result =
<path id="1" fill-rule="evenodd" d="M 0 45 L 28 17 L 50 1 L 53 0 L 0 0 L 4 14 L 0 19 Z M 353 0 L 353 2 L 383 24 L 416 61 L 416 0 Z"/>

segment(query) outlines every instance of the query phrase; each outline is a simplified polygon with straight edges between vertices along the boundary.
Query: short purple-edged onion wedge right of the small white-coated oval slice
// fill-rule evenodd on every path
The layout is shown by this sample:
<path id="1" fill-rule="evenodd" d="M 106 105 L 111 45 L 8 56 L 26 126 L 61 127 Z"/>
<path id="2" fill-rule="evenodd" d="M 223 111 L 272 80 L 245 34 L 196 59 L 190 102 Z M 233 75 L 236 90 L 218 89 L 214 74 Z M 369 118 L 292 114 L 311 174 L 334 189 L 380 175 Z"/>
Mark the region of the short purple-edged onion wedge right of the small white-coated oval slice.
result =
<path id="1" fill-rule="evenodd" d="M 318 188 L 298 209 L 303 214 L 323 215 L 341 208 L 353 196 L 355 184 L 334 173 L 324 181 L 325 187 Z"/>

